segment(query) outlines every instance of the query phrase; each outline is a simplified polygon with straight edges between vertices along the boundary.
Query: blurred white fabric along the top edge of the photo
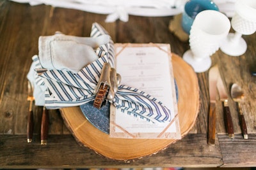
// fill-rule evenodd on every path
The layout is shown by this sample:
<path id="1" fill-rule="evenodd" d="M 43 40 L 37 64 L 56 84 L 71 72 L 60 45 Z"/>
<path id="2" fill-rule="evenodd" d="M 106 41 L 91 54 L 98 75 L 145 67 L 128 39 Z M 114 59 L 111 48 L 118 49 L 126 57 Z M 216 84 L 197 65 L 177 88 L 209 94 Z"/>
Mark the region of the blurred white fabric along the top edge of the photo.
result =
<path id="1" fill-rule="evenodd" d="M 188 0 L 11 0 L 17 3 L 29 3 L 31 6 L 47 4 L 54 7 L 70 8 L 92 13 L 108 15 L 106 22 L 123 22 L 129 20 L 129 15 L 143 17 L 163 17 L 182 13 Z M 220 11 L 228 17 L 234 15 L 236 0 L 213 0 Z"/>

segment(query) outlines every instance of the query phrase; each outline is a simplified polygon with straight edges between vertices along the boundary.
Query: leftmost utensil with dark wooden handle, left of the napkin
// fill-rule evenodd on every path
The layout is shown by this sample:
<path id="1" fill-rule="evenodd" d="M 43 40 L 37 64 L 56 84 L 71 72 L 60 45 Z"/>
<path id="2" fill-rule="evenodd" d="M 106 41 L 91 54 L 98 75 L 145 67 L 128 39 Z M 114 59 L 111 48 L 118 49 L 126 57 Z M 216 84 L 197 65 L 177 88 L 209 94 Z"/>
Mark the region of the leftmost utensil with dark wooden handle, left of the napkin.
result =
<path id="1" fill-rule="evenodd" d="M 34 129 L 34 114 L 33 114 L 33 103 L 35 98 L 33 97 L 33 85 L 28 81 L 28 98 L 29 101 L 29 111 L 28 111 L 28 126 L 27 126 L 27 141 L 32 142 L 33 129 Z"/>

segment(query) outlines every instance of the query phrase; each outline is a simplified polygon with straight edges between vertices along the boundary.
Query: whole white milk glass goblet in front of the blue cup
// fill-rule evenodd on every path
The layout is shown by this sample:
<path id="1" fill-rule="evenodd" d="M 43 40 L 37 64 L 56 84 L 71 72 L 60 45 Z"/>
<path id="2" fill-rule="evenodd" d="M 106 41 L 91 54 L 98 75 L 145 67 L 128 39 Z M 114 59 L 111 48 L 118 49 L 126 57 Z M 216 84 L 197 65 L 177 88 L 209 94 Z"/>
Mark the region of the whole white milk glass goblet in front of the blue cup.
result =
<path id="1" fill-rule="evenodd" d="M 230 21 L 219 11 L 205 10 L 196 15 L 189 35 L 190 50 L 183 59 L 196 73 L 207 71 L 211 67 L 211 55 L 219 48 L 221 41 L 227 38 Z"/>

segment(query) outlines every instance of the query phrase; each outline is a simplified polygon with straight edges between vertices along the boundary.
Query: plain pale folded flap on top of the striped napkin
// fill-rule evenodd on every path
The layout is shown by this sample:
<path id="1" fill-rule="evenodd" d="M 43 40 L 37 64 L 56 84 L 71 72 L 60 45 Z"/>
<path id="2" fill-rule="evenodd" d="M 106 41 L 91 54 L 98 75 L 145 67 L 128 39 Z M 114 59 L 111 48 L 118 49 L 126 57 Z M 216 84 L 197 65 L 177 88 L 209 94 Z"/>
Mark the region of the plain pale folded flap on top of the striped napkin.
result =
<path id="1" fill-rule="evenodd" d="M 47 69 L 77 73 L 99 58 L 93 48 L 107 44 L 109 40 L 110 37 L 106 34 L 96 38 L 66 36 L 60 33 L 54 36 L 41 36 L 39 38 L 40 63 Z"/>

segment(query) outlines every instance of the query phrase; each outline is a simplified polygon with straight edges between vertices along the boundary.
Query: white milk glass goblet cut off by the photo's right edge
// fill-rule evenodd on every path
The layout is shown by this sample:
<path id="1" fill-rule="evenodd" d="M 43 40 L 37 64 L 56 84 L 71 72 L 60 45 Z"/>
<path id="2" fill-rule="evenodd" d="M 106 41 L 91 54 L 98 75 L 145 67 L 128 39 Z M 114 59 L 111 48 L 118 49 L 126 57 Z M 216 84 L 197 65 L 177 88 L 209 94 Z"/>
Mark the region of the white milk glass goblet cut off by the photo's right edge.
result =
<path id="1" fill-rule="evenodd" d="M 256 1 L 237 0 L 235 11 L 231 25 L 236 32 L 229 33 L 227 39 L 220 46 L 222 52 L 231 56 L 245 53 L 247 44 L 242 35 L 250 35 L 256 31 Z"/>

